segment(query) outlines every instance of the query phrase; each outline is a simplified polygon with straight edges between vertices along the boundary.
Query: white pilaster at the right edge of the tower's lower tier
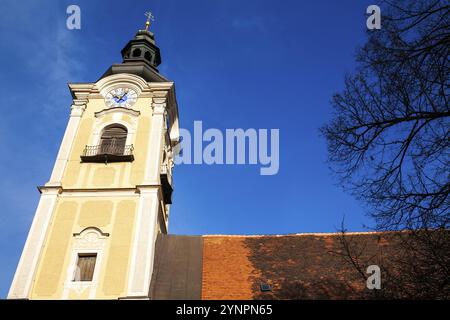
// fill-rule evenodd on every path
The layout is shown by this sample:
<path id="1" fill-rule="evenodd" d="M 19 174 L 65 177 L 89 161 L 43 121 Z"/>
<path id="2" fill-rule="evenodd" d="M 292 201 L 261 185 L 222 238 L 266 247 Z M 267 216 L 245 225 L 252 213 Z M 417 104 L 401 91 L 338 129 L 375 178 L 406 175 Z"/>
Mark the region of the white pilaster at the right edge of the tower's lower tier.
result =
<path id="1" fill-rule="evenodd" d="M 128 279 L 128 299 L 148 298 L 158 232 L 159 190 L 157 187 L 138 188 L 140 199 Z"/>

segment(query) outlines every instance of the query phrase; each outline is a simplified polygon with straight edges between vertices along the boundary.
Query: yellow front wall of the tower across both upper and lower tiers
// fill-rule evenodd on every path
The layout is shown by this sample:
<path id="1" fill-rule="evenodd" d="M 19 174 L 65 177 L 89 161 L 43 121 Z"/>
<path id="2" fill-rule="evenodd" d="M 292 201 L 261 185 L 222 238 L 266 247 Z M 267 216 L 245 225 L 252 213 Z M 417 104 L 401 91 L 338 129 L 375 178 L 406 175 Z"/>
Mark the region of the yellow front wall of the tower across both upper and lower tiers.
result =
<path id="1" fill-rule="evenodd" d="M 138 117 L 125 113 L 109 113 L 96 118 L 94 113 L 104 110 L 105 103 L 102 98 L 91 99 L 82 116 L 64 172 L 63 189 L 135 188 L 136 185 L 142 184 L 150 137 L 150 106 L 151 98 L 141 98 L 132 107 L 140 112 Z M 94 144 L 94 132 L 118 119 L 134 128 L 131 144 L 134 145 L 135 160 L 107 165 L 81 163 L 80 155 L 85 146 Z M 103 233 L 110 234 L 105 242 L 100 264 L 97 258 L 96 268 L 101 269 L 95 298 L 117 299 L 126 296 L 138 199 L 138 195 L 75 197 L 66 196 L 63 192 L 52 215 L 30 298 L 61 299 L 64 298 L 64 293 L 69 299 L 89 297 L 91 289 L 65 290 L 65 282 L 70 278 L 69 267 L 73 263 L 73 234 L 86 227 L 97 227 Z"/>

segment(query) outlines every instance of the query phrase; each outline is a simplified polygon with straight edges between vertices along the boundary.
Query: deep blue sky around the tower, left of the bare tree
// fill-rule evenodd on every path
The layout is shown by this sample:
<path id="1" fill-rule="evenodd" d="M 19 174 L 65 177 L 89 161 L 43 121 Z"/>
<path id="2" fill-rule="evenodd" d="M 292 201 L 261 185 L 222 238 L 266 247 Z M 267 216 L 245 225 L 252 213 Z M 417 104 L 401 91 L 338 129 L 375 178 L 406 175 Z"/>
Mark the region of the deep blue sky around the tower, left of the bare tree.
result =
<path id="1" fill-rule="evenodd" d="M 66 8 L 81 7 L 81 30 Z M 326 164 L 319 128 L 364 43 L 363 0 L 3 0 L 0 92 L 0 297 L 5 297 L 67 123 L 68 82 L 94 82 L 144 12 L 176 83 L 183 128 L 279 128 L 280 171 L 251 165 L 175 168 L 170 232 L 285 234 L 371 225 Z"/>

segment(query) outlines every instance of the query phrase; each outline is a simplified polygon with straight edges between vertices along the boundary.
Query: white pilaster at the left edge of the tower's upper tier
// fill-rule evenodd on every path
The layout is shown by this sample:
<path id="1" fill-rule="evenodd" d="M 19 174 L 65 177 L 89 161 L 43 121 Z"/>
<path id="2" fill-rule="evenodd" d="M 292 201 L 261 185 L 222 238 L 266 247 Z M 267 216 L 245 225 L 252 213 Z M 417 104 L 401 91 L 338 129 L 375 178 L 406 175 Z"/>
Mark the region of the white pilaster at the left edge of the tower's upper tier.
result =
<path id="1" fill-rule="evenodd" d="M 50 181 L 46 183 L 46 186 L 61 185 L 64 170 L 66 169 L 67 161 L 69 160 L 70 151 L 75 141 L 75 135 L 77 134 L 78 127 L 81 122 L 81 116 L 83 115 L 85 109 L 86 101 L 74 100 L 71 107 L 69 122 L 56 157 L 55 165 L 53 166 L 52 175 L 50 177 Z"/>

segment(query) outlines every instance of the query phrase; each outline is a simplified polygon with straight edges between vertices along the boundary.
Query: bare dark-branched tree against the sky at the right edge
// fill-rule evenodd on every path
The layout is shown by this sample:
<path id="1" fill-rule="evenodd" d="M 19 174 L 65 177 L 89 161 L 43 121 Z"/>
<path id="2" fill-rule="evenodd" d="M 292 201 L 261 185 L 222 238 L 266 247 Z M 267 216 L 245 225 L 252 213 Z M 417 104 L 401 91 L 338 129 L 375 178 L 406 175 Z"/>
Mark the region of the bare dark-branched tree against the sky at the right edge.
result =
<path id="1" fill-rule="evenodd" d="M 321 131 L 331 168 L 367 204 L 376 229 L 409 230 L 385 270 L 394 275 L 386 296 L 449 298 L 450 6 L 383 5 L 381 29 L 368 31 Z"/>

